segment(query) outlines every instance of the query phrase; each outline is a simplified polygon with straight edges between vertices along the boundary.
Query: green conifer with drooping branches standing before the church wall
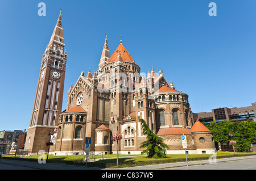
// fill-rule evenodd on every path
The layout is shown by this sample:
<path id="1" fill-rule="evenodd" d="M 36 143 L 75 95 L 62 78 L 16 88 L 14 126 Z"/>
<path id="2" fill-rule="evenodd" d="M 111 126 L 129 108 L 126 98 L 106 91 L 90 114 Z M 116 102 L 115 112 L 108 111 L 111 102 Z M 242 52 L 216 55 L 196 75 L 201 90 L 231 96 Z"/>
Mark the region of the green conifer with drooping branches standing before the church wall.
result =
<path id="1" fill-rule="evenodd" d="M 139 122 L 142 124 L 143 135 L 146 135 L 147 138 L 139 146 L 139 148 L 146 148 L 142 151 L 142 154 L 146 153 L 147 158 L 166 158 L 164 151 L 168 146 L 163 143 L 163 138 L 153 133 L 143 119 L 140 119 Z"/>

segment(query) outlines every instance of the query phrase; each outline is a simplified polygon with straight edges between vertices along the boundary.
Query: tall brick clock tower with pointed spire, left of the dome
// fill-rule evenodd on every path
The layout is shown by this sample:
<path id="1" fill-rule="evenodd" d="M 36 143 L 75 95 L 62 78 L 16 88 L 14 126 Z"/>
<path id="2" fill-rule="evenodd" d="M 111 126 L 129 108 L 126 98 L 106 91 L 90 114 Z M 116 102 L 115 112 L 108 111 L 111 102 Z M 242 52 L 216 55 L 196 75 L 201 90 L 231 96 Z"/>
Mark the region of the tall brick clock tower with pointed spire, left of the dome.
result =
<path id="1" fill-rule="evenodd" d="M 43 54 L 38 86 L 24 150 L 47 152 L 51 131 L 57 128 L 61 113 L 67 52 L 64 50 L 61 12 L 53 30 L 51 40 Z"/>

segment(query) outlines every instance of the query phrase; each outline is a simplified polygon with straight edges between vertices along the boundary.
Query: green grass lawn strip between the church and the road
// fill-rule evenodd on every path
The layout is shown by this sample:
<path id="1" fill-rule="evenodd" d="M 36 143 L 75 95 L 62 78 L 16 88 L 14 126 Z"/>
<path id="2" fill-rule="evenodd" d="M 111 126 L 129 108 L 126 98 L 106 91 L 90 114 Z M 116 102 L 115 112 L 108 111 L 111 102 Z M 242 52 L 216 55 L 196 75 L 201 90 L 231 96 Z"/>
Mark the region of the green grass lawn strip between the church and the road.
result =
<path id="1" fill-rule="evenodd" d="M 237 155 L 250 155 L 255 153 L 236 153 Z M 232 157 L 234 152 L 218 152 L 218 157 Z M 210 154 L 188 154 L 188 160 L 193 161 L 199 159 L 209 159 Z M 23 161 L 34 161 L 38 162 L 38 158 L 42 158 L 42 155 L 30 155 L 28 157 L 20 157 L 20 155 L 16 155 L 16 159 Z M 47 155 L 46 155 L 47 157 Z M 103 159 L 102 159 L 103 157 Z M 3 155 L 2 158 L 10 158 L 14 159 L 14 155 Z M 90 155 L 89 158 L 94 158 L 94 155 Z M 100 160 L 96 162 L 88 162 L 88 166 L 92 167 L 110 167 L 114 168 L 117 162 L 116 154 L 107 154 L 107 155 L 96 155 L 96 158 L 100 158 Z M 65 163 L 65 162 L 79 162 L 73 163 L 75 165 L 85 165 L 85 163 L 81 163 L 84 159 L 86 159 L 85 155 L 65 155 L 65 156 L 55 156 L 49 155 L 47 163 Z M 118 157 L 119 166 L 120 167 L 129 167 L 129 166 L 139 166 L 139 165 L 155 165 L 161 163 L 171 163 L 171 162 L 181 162 L 185 161 L 185 154 L 170 154 L 167 155 L 167 158 L 146 158 L 146 155 L 122 155 L 119 154 Z"/>

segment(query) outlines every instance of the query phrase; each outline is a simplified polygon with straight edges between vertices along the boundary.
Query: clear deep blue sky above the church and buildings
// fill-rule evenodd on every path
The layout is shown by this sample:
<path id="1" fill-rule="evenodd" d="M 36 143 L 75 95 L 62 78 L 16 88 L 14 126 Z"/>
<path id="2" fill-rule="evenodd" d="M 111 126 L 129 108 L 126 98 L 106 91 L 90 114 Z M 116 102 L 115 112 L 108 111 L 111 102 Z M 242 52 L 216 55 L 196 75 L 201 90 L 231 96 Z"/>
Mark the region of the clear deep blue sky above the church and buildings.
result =
<path id="1" fill-rule="evenodd" d="M 46 16 L 39 16 L 39 2 Z M 210 2 L 217 16 L 209 16 Z M 0 131 L 28 129 L 42 55 L 63 9 L 67 92 L 98 68 L 105 33 L 141 67 L 163 71 L 189 95 L 192 112 L 256 102 L 256 1 L 0 1 Z"/>

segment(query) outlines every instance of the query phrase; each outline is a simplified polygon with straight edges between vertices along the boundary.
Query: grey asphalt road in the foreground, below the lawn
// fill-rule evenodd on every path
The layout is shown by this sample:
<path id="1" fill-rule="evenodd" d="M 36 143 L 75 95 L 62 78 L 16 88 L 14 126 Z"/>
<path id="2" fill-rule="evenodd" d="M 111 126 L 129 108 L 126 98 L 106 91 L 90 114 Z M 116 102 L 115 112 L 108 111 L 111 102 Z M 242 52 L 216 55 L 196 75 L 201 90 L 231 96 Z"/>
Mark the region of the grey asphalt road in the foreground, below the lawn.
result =
<path id="1" fill-rule="evenodd" d="M 210 164 L 209 161 L 188 162 L 189 170 L 256 170 L 256 156 L 233 157 L 217 159 L 216 163 Z M 0 170 L 116 170 L 100 169 L 93 167 L 69 166 L 64 163 L 47 164 L 38 162 L 16 161 L 1 159 Z M 120 170 L 187 170 L 186 162 L 166 163 L 159 165 L 147 165 L 138 167 L 123 168 Z"/>

